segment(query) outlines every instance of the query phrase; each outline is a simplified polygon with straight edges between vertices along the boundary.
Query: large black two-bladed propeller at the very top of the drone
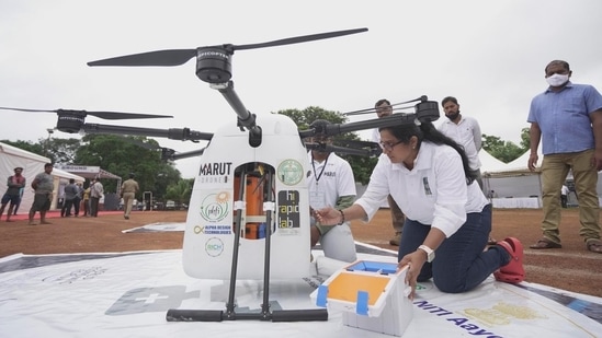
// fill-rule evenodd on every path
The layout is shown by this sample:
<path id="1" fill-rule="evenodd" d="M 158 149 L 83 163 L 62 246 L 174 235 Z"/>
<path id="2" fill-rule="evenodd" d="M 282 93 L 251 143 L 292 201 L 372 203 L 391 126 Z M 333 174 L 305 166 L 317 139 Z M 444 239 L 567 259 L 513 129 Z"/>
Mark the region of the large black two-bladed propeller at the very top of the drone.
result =
<path id="1" fill-rule="evenodd" d="M 260 44 L 249 44 L 249 45 L 217 45 L 217 46 L 206 46 L 198 47 L 196 49 L 166 49 L 166 50 L 156 50 L 141 54 L 127 55 L 122 57 L 114 57 L 103 60 L 96 60 L 88 62 L 88 66 L 126 66 L 126 67 L 136 67 L 136 66 L 158 66 L 158 67 L 169 67 L 169 66 L 180 66 L 188 62 L 195 56 L 202 55 L 203 50 L 206 49 L 218 49 L 228 55 L 232 55 L 235 50 L 245 50 L 245 49 L 254 49 L 254 48 L 266 48 L 275 47 L 282 45 L 291 44 L 300 44 L 317 39 L 332 38 L 343 35 L 356 34 L 366 32 L 367 28 L 355 28 L 347 31 L 337 31 L 329 33 L 311 34 L 297 37 L 288 37 L 283 39 L 277 39 L 268 43 Z"/>

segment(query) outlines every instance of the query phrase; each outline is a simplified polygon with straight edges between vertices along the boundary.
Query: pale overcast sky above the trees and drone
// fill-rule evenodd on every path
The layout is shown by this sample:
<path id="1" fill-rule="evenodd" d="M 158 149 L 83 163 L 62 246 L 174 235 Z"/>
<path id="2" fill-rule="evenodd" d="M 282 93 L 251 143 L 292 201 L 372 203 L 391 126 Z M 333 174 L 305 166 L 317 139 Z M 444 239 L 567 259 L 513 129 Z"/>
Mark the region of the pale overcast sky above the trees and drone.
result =
<path id="1" fill-rule="evenodd" d="M 567 60 L 573 82 L 602 90 L 600 13 L 599 0 L 0 0 L 0 106 L 166 114 L 174 118 L 120 124 L 213 132 L 237 116 L 196 78 L 194 60 L 166 68 L 86 63 L 367 27 L 338 38 L 236 51 L 238 96 L 260 115 L 308 106 L 351 112 L 382 97 L 397 103 L 428 95 L 440 102 L 453 95 L 484 133 L 519 143 L 531 98 L 546 88 L 544 67 L 550 60 Z M 373 116 L 350 120 L 366 118 Z M 0 139 L 37 141 L 55 126 L 55 114 L 0 110 Z M 157 140 L 178 151 L 204 145 Z M 180 160 L 177 167 L 193 177 L 197 164 L 198 159 Z"/>

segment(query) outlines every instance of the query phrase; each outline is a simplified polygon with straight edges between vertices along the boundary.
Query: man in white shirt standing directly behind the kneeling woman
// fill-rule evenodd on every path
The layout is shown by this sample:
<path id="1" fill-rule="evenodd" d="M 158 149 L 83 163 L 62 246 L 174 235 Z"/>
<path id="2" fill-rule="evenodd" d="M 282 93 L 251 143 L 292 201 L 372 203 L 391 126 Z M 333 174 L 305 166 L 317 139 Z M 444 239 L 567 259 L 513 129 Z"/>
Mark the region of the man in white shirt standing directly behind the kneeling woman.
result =
<path id="1" fill-rule="evenodd" d="M 466 156 L 468 156 L 470 171 L 482 190 L 482 176 L 480 173 L 479 160 L 479 151 L 481 148 L 479 123 L 475 118 L 464 116 L 459 113 L 459 104 L 454 96 L 444 97 L 443 101 L 441 101 L 441 106 L 445 112 L 447 120 L 444 120 L 439 126 L 439 131 L 464 148 L 464 152 L 466 153 Z M 487 244 L 493 245 L 496 244 L 496 240 L 489 235 Z"/>

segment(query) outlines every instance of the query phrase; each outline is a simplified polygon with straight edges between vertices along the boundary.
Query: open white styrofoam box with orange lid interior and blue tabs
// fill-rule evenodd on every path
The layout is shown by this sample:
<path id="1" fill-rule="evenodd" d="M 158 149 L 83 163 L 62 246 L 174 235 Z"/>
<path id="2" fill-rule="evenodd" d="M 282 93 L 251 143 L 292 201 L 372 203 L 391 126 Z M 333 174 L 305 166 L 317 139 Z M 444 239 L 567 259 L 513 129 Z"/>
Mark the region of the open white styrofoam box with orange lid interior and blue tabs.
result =
<path id="1" fill-rule="evenodd" d="M 406 292 L 407 270 L 406 266 L 397 271 L 394 263 L 357 260 L 333 273 L 310 296 L 318 306 L 343 311 L 347 326 L 401 337 L 413 317 Z"/>

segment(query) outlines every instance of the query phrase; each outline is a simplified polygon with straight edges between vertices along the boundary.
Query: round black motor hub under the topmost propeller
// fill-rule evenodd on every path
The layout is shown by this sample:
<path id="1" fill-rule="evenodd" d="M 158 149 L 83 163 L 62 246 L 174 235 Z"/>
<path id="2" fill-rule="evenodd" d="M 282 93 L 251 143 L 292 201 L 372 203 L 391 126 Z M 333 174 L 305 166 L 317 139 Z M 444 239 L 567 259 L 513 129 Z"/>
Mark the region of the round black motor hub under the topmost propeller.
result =
<path id="1" fill-rule="evenodd" d="M 226 83 L 232 78 L 231 53 L 222 47 L 198 48 L 196 77 L 208 83 Z"/>

